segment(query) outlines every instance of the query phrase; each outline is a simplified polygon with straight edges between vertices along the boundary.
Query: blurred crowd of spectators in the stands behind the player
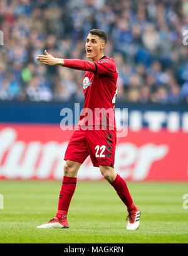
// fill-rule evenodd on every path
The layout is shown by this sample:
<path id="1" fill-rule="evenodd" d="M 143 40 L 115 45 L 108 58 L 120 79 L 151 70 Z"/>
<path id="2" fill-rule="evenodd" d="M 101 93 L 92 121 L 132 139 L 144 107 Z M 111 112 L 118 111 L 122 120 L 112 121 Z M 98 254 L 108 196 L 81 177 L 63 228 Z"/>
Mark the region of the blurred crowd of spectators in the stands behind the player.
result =
<path id="1" fill-rule="evenodd" d="M 0 1 L 0 100 L 83 101 L 83 72 L 36 62 L 44 50 L 86 60 L 85 38 L 105 30 L 118 99 L 188 104 L 188 1 Z M 188 41 L 188 40 L 187 40 Z"/>

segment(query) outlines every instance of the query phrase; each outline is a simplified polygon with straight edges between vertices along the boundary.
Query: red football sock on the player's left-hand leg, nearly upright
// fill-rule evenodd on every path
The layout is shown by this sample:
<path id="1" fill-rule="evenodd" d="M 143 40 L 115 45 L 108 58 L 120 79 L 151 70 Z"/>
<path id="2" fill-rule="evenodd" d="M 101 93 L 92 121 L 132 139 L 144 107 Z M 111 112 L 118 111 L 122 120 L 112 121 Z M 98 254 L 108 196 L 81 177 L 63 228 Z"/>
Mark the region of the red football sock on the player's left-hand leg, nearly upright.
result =
<path id="1" fill-rule="evenodd" d="M 71 198 L 76 189 L 76 180 L 77 178 L 75 177 L 63 177 L 58 203 L 58 212 L 56 214 L 57 218 L 66 218 Z"/>

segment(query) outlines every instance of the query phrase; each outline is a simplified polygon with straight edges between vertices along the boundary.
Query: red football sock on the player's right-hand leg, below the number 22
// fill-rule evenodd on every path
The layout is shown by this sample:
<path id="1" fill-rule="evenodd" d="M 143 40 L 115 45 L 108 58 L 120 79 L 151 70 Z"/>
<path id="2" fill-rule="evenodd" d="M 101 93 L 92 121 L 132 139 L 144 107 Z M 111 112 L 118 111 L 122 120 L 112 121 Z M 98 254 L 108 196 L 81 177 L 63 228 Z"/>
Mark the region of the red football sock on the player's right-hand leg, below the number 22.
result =
<path id="1" fill-rule="evenodd" d="M 123 203 L 127 206 L 127 211 L 134 211 L 137 209 L 132 201 L 127 184 L 120 175 L 117 174 L 115 180 L 110 184 L 114 187 L 120 199 L 122 199 Z"/>

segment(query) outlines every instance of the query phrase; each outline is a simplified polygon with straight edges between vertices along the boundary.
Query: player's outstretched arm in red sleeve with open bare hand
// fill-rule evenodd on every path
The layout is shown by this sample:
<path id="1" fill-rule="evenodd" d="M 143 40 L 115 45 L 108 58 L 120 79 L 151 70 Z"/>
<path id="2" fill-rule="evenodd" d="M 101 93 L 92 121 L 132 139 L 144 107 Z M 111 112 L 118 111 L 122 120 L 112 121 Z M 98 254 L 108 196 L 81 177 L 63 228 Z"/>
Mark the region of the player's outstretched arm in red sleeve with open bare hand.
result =
<path id="1" fill-rule="evenodd" d="M 36 60 L 41 64 L 46 65 L 61 65 L 64 67 L 70 67 L 70 69 L 78 69 L 95 72 L 97 69 L 97 64 L 95 62 L 88 62 L 86 60 L 72 60 L 66 58 L 55 58 L 50 55 L 46 50 L 44 51 L 45 55 L 39 55 Z"/>

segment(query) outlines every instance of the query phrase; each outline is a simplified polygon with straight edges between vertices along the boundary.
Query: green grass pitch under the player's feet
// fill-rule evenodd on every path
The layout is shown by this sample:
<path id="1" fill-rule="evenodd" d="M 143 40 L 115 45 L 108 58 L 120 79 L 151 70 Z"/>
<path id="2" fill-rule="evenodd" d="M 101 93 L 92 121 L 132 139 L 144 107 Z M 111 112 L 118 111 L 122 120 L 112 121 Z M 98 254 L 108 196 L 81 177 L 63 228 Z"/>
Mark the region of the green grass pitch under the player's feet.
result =
<path id="1" fill-rule="evenodd" d="M 187 183 L 127 182 L 140 208 L 140 227 L 126 230 L 127 209 L 108 182 L 79 182 L 70 228 L 41 230 L 56 214 L 59 181 L 0 181 L 0 243 L 188 243 Z"/>

